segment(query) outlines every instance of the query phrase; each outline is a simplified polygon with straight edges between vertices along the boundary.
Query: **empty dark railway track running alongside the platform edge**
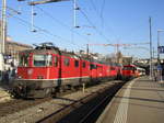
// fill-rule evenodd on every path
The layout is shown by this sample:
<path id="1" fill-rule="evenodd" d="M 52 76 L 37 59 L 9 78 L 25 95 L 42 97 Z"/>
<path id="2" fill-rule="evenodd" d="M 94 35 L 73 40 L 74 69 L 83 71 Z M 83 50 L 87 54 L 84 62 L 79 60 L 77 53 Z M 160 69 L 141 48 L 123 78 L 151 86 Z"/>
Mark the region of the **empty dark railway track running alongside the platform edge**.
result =
<path id="1" fill-rule="evenodd" d="M 113 96 L 124 82 L 103 88 L 96 92 L 60 109 L 37 123 L 94 123 Z M 96 112 L 96 113 L 95 113 Z M 74 119 L 75 118 L 75 119 Z"/>

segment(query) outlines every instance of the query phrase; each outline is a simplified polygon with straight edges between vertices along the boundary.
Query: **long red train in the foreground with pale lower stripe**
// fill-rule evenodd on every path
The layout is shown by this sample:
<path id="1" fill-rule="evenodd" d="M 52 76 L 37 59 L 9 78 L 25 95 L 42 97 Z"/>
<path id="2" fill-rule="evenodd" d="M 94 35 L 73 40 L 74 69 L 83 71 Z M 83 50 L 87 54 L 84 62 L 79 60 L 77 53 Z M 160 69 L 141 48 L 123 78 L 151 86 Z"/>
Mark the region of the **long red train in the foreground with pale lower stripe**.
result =
<path id="1" fill-rule="evenodd" d="M 50 43 L 21 52 L 19 56 L 17 78 L 12 89 L 14 97 L 44 98 L 62 87 L 114 79 L 120 75 L 120 66 L 91 62 L 87 57 L 62 52 Z"/>

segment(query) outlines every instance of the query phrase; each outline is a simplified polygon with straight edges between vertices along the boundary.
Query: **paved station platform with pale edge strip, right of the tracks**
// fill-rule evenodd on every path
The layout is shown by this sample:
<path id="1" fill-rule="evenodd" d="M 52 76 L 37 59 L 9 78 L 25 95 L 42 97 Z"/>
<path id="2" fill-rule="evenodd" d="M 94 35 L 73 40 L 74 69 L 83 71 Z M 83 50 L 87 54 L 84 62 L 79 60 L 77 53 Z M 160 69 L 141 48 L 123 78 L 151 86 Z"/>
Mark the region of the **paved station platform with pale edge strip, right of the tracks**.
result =
<path id="1" fill-rule="evenodd" d="M 164 83 L 149 77 L 127 82 L 96 123 L 164 123 Z"/>

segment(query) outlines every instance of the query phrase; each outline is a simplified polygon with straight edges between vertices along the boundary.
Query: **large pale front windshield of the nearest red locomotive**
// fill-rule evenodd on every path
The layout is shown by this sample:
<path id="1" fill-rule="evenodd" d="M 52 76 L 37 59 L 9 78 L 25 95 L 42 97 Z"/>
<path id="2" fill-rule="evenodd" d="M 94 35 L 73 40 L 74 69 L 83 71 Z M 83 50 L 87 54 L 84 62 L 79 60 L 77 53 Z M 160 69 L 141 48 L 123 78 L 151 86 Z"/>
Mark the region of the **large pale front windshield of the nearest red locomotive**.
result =
<path id="1" fill-rule="evenodd" d="M 34 66 L 51 66 L 51 55 L 34 55 Z"/>

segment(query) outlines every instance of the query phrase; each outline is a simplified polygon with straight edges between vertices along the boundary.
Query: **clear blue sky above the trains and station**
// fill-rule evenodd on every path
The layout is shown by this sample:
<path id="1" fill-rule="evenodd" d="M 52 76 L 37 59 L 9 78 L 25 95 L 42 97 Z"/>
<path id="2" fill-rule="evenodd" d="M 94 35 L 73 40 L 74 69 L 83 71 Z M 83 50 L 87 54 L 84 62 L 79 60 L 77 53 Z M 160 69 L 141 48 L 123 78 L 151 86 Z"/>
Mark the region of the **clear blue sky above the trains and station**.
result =
<path id="1" fill-rule="evenodd" d="M 7 0 L 8 35 L 25 44 L 52 42 L 61 49 L 113 54 L 116 48 L 94 44 L 138 44 L 119 47 L 124 55 L 148 58 L 149 18 L 152 18 L 152 42 L 156 52 L 157 30 L 164 30 L 164 0 L 77 0 L 73 27 L 73 0 L 34 5 L 32 26 L 31 0 Z M 39 0 L 34 0 L 39 1 Z M 1 4 L 0 4 L 1 7 Z M 21 12 L 17 14 L 13 10 Z M 36 32 L 32 32 L 35 29 Z M 164 32 L 160 43 L 164 45 Z M 155 53 L 156 56 L 156 53 Z"/>

